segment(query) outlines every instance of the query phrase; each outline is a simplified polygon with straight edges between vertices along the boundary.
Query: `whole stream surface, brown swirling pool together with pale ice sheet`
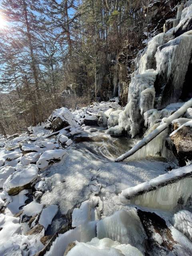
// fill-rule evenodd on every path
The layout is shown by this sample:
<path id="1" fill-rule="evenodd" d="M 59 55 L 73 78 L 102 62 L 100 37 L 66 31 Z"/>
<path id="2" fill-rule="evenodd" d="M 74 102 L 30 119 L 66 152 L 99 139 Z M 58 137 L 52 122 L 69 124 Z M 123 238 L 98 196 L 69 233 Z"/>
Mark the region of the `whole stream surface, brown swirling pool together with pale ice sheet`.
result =
<path id="1" fill-rule="evenodd" d="M 118 201 L 121 190 L 165 174 L 172 163 L 154 157 L 132 162 L 113 162 L 116 156 L 131 148 L 137 140 L 112 138 L 96 132 L 76 136 L 78 142 L 58 164 L 48 167 L 40 175 L 50 189 L 41 202 L 58 204 L 61 214 L 67 214 L 93 195 L 103 201 L 102 214 L 110 216 L 122 205 Z"/>

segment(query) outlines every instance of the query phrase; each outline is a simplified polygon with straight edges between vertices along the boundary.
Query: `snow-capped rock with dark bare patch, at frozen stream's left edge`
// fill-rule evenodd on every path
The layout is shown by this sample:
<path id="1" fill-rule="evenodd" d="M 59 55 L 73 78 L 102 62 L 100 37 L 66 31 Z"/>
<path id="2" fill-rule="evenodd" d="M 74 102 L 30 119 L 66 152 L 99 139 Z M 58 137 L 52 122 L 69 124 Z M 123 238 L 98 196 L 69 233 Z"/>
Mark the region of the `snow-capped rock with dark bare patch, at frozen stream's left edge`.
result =
<path id="1" fill-rule="evenodd" d="M 37 161 L 37 166 L 40 169 L 46 168 L 49 164 L 53 164 L 62 159 L 64 154 L 67 154 L 63 149 L 47 150 L 45 151 Z"/>

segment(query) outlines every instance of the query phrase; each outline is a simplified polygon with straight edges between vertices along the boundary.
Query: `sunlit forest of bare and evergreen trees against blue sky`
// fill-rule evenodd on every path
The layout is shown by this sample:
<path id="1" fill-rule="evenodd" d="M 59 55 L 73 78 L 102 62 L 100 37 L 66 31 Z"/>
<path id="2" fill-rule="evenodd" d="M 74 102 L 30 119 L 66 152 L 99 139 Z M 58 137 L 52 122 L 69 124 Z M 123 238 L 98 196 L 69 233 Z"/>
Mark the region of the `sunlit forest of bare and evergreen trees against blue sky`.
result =
<path id="1" fill-rule="evenodd" d="M 118 96 L 118 58 L 128 76 L 142 41 L 156 26 L 149 4 L 2 0 L 0 132 L 21 132 L 59 106 L 76 108 Z M 128 87 L 128 78 L 124 80 Z"/>

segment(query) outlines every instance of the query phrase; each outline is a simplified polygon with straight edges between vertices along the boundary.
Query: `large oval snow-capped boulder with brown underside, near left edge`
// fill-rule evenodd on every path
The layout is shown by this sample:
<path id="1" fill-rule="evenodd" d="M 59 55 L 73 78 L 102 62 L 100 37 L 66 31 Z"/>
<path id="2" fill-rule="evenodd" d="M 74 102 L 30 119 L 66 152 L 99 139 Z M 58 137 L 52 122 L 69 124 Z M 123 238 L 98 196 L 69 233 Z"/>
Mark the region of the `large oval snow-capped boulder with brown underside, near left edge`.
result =
<path id="1" fill-rule="evenodd" d="M 22 166 L 6 179 L 3 189 L 10 195 L 18 194 L 21 190 L 30 188 L 37 176 L 38 167 L 35 164 Z"/>

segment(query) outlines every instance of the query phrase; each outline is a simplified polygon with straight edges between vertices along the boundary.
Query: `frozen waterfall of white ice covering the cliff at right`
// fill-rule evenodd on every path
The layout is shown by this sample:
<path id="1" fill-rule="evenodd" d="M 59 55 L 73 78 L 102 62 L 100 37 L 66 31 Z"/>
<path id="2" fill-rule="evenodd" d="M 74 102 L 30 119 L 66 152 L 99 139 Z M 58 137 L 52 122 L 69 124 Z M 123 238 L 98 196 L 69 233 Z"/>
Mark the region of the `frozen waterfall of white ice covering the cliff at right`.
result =
<path id="1" fill-rule="evenodd" d="M 128 88 L 128 104 L 119 116 L 118 126 L 111 129 L 112 134 L 122 131 L 121 127 L 134 137 L 142 132 L 144 123 L 152 126 L 180 107 L 170 104 L 190 97 L 191 20 L 192 1 L 187 1 L 178 6 L 177 16 L 172 19 L 176 27 L 166 31 L 164 26 L 164 32 L 154 36 L 138 53 Z"/>

